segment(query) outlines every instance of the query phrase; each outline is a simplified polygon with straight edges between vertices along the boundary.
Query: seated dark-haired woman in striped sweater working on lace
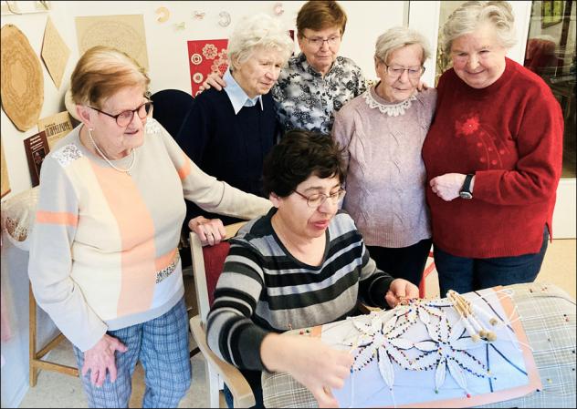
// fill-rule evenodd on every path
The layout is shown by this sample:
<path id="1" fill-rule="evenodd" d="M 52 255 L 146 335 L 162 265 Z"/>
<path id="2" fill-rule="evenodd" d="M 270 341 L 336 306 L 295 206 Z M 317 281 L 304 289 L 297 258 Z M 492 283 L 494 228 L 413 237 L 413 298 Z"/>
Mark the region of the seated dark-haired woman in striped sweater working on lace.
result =
<path id="1" fill-rule="evenodd" d="M 386 308 L 418 296 L 412 283 L 376 267 L 351 217 L 338 211 L 345 171 L 329 135 L 289 131 L 265 161 L 274 209 L 231 241 L 207 338 L 246 374 L 257 406 L 265 369 L 293 375 L 320 407 L 337 404 L 330 389 L 350 375 L 350 353 L 278 332 L 341 320 L 359 301 Z"/>

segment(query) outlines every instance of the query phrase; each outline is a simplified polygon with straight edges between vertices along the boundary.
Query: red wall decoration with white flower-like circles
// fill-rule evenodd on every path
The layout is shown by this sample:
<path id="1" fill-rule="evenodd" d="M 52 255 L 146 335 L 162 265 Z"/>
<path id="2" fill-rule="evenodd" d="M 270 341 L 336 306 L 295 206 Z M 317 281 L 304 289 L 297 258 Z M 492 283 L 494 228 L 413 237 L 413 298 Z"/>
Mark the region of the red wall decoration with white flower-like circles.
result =
<path id="1" fill-rule="evenodd" d="M 211 72 L 224 75 L 228 66 L 226 46 L 228 40 L 194 40 L 188 42 L 192 95 L 195 97 L 202 82 Z"/>

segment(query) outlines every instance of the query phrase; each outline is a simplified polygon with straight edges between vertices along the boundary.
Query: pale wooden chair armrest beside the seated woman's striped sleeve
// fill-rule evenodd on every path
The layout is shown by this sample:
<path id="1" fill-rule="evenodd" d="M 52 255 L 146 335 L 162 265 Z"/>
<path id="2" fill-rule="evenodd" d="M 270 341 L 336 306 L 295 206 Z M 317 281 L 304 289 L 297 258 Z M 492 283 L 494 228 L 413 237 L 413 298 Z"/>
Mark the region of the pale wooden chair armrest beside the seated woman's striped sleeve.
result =
<path id="1" fill-rule="evenodd" d="M 208 343 L 206 343 L 206 332 L 201 324 L 200 316 L 195 315 L 190 319 L 190 328 L 191 332 L 193 332 L 194 340 L 198 344 L 198 348 L 205 356 L 206 362 L 223 378 L 223 381 L 233 394 L 235 407 L 254 406 L 256 403 L 255 395 L 252 393 L 252 389 L 247 383 L 247 379 L 245 379 L 236 366 L 220 359 L 208 347 Z"/>

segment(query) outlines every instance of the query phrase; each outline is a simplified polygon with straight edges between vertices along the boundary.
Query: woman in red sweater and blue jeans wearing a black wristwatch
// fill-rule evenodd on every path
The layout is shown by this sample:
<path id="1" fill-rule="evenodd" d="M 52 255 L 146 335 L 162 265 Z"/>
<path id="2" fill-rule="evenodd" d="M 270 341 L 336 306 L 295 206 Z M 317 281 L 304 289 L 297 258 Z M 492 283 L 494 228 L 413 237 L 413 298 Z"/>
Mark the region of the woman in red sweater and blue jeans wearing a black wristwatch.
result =
<path id="1" fill-rule="evenodd" d="M 505 55 L 507 2 L 467 2 L 443 27 L 453 68 L 440 78 L 423 158 L 441 293 L 533 281 L 561 177 L 561 107 Z"/>

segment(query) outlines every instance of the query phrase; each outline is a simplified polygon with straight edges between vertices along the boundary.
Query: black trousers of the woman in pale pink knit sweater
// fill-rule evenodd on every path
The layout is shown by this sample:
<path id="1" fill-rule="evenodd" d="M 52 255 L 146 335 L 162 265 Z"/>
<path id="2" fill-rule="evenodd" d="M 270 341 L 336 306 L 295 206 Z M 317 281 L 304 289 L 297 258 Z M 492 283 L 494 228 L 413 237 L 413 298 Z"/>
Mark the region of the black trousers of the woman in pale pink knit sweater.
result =
<path id="1" fill-rule="evenodd" d="M 431 243 L 430 239 L 425 239 L 398 249 L 379 246 L 367 246 L 367 249 L 379 269 L 388 272 L 395 279 L 411 281 L 418 286 L 423 277 Z"/>

